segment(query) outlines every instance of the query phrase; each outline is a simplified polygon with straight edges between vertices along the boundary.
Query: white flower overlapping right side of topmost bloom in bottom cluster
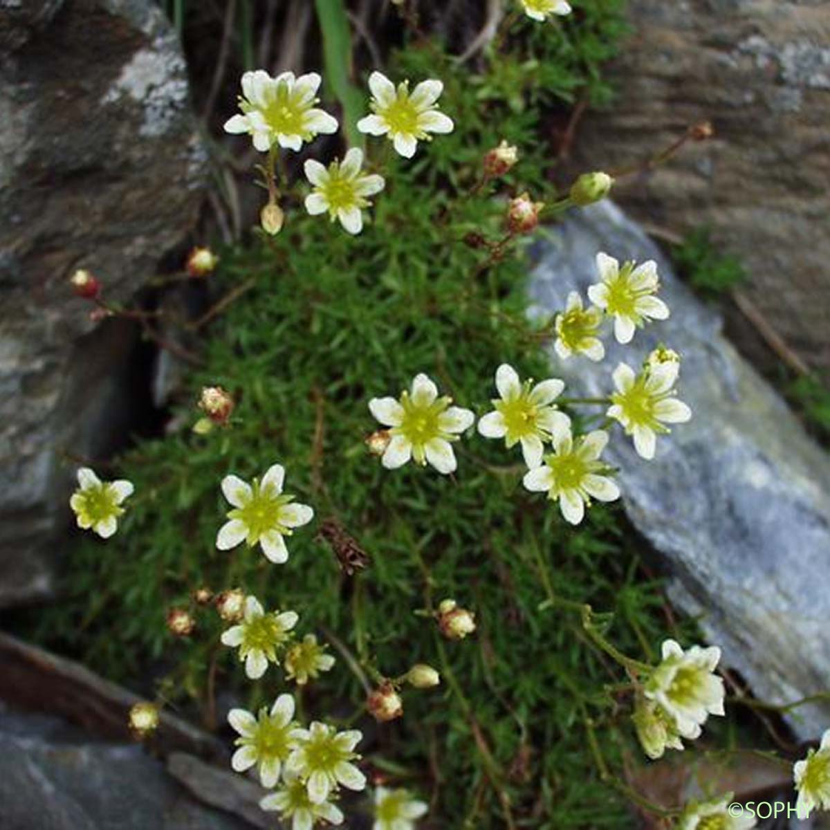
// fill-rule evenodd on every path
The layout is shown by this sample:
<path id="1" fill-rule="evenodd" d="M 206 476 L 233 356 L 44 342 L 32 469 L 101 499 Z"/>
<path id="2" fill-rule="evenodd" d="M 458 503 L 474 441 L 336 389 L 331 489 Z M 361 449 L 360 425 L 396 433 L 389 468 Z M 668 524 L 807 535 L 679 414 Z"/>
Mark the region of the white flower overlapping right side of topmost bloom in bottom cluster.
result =
<path id="1" fill-rule="evenodd" d="M 355 791 L 365 789 L 366 776 L 351 762 L 363 738 L 358 730 L 338 732 L 334 726 L 313 722 L 308 730 L 297 730 L 296 749 L 286 764 L 286 773 L 305 781 L 312 803 L 323 803 L 342 784 Z"/>

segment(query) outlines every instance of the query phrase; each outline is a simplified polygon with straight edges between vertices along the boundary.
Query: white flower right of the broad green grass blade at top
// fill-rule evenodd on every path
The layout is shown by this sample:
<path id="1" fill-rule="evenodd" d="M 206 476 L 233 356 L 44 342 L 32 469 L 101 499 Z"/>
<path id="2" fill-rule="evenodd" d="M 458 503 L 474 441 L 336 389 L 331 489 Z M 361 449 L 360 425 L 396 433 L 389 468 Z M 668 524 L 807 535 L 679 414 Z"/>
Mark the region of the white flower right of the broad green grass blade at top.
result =
<path id="1" fill-rule="evenodd" d="M 409 81 L 398 84 L 396 90 L 383 73 L 373 72 L 369 90 L 374 115 L 359 120 L 358 129 L 370 135 L 388 135 L 405 158 L 411 159 L 418 141 L 428 141 L 430 133 L 452 133 L 452 119 L 439 112 L 436 104 L 444 90 L 441 81 L 421 81 L 410 94 Z"/>

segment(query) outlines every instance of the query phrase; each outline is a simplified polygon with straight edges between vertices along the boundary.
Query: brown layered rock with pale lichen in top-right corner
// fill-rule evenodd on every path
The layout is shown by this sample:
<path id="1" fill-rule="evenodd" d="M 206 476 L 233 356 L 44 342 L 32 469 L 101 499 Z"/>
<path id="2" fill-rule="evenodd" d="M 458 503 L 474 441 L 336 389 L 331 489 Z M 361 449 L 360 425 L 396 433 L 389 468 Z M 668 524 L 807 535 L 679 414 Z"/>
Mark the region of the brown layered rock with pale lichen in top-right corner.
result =
<path id="1" fill-rule="evenodd" d="M 621 182 L 641 221 L 709 224 L 748 266 L 749 298 L 809 365 L 830 368 L 830 4 L 630 0 L 618 90 L 588 116 L 580 165 L 630 168 L 711 120 L 715 138 Z"/>

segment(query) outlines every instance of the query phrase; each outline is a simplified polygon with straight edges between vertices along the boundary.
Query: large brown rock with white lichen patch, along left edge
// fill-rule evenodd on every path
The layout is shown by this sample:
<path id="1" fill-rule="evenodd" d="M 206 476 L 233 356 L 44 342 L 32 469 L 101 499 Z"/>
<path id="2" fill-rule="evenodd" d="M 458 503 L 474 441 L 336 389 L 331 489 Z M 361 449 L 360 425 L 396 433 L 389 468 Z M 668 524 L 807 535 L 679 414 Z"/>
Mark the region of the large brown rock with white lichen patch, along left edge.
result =
<path id="1" fill-rule="evenodd" d="M 0 606 L 52 590 L 77 461 L 129 422 L 133 325 L 95 326 L 192 226 L 205 154 L 150 0 L 0 0 Z"/>

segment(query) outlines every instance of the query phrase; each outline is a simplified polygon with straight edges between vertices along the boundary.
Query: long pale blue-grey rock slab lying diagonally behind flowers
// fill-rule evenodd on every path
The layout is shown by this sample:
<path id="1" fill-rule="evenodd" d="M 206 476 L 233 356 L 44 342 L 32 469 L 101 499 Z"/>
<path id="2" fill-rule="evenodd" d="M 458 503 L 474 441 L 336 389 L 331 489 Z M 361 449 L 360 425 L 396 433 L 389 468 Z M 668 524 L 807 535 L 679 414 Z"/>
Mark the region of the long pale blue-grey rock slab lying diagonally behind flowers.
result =
<path id="1" fill-rule="evenodd" d="M 551 237 L 531 286 L 547 312 L 562 308 L 569 291 L 585 296 L 597 281 L 598 251 L 658 263 L 670 320 L 638 330 L 628 346 L 606 337 L 600 364 L 552 355 L 554 374 L 579 397 L 608 394 L 618 362 L 637 368 L 660 342 L 682 355 L 678 389 L 691 422 L 658 438 L 654 461 L 638 457 L 619 428 L 607 453 L 620 467 L 627 514 L 665 559 L 672 600 L 700 616 L 725 664 L 761 700 L 780 705 L 828 691 L 830 459 L 618 207 L 573 212 Z M 820 735 L 830 704 L 799 707 L 790 722 L 803 738 Z"/>

